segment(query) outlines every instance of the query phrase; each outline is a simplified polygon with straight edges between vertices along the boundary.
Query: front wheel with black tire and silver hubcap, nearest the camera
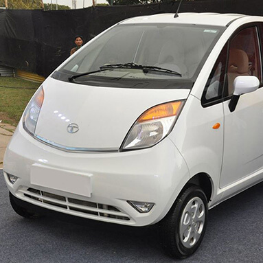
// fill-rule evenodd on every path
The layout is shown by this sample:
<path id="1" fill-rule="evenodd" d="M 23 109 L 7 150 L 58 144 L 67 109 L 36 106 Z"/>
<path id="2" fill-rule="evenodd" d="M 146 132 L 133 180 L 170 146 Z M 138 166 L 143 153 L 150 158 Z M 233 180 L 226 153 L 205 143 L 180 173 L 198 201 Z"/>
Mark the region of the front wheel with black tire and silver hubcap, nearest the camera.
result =
<path id="1" fill-rule="evenodd" d="M 161 244 L 168 255 L 183 259 L 198 249 L 207 226 L 207 211 L 207 197 L 200 187 L 190 185 L 181 192 L 159 225 Z"/>

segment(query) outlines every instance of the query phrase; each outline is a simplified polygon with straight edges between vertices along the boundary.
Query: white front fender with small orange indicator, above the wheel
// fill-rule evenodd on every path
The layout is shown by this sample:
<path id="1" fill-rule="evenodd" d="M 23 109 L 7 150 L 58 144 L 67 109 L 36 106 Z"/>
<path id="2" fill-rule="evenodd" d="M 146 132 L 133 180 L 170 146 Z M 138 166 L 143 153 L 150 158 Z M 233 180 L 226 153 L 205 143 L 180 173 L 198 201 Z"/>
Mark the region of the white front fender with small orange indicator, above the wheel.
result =
<path id="1" fill-rule="evenodd" d="M 215 124 L 220 124 L 214 129 Z M 205 173 L 211 176 L 213 195 L 216 196 L 223 152 L 224 118 L 222 103 L 203 108 L 201 101 L 190 95 L 169 137 L 183 155 L 190 176 Z"/>

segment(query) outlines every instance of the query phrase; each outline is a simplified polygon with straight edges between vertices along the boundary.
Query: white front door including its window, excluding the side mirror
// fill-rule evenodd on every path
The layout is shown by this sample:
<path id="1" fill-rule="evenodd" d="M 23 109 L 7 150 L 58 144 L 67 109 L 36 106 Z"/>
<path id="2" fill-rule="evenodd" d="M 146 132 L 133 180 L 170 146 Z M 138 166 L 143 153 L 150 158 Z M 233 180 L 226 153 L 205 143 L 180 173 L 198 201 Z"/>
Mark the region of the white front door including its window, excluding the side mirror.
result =
<path id="1" fill-rule="evenodd" d="M 257 76 L 262 80 L 257 26 L 241 30 L 229 42 L 220 188 L 263 167 L 263 89 L 241 95 L 235 111 L 231 113 L 229 100 L 233 94 L 233 80 L 237 76 Z"/>

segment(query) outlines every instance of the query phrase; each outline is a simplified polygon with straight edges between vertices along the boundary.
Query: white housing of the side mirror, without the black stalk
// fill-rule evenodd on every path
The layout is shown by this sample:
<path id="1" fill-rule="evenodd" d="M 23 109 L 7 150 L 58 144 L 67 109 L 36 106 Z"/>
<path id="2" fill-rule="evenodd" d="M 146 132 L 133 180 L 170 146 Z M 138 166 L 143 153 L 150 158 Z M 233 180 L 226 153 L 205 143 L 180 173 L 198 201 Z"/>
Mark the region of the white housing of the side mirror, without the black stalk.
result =
<path id="1" fill-rule="evenodd" d="M 256 91 L 260 87 L 260 80 L 255 76 L 238 76 L 233 82 L 233 95 L 241 95 Z"/>

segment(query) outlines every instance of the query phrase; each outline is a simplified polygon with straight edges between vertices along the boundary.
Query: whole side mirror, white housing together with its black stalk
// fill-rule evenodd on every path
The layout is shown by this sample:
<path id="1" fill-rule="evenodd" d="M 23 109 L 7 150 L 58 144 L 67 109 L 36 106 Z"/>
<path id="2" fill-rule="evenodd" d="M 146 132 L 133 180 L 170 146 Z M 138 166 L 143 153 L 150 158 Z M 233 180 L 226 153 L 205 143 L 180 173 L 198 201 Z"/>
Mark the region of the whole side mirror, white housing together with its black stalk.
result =
<path id="1" fill-rule="evenodd" d="M 255 76 L 238 76 L 233 82 L 233 97 L 229 102 L 229 110 L 235 111 L 240 95 L 256 91 L 260 87 L 260 80 Z"/>

